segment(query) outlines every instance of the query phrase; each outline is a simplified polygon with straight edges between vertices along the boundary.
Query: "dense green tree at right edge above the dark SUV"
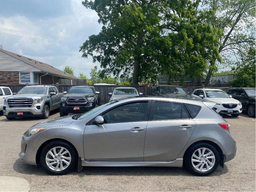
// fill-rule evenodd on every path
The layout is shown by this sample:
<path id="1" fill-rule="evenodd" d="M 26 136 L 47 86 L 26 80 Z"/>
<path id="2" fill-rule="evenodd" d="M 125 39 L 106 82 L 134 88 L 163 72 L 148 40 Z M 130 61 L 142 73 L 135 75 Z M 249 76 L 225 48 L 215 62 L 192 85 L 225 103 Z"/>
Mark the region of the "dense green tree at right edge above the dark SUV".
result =
<path id="1" fill-rule="evenodd" d="M 242 57 L 242 61 L 232 68 L 235 75 L 233 87 L 255 87 L 255 52 L 255 47 L 251 47 L 247 54 L 244 54 L 244 57 Z"/>

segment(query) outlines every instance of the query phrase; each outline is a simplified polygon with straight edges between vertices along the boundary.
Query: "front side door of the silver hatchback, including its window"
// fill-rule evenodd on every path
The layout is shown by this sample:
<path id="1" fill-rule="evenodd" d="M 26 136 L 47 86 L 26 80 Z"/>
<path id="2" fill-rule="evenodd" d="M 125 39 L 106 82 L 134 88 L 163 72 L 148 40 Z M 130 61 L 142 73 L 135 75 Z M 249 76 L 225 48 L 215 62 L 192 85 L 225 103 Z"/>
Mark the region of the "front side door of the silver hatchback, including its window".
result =
<path id="1" fill-rule="evenodd" d="M 103 125 L 86 124 L 84 156 L 88 161 L 143 161 L 148 101 L 122 104 L 102 113 Z"/>

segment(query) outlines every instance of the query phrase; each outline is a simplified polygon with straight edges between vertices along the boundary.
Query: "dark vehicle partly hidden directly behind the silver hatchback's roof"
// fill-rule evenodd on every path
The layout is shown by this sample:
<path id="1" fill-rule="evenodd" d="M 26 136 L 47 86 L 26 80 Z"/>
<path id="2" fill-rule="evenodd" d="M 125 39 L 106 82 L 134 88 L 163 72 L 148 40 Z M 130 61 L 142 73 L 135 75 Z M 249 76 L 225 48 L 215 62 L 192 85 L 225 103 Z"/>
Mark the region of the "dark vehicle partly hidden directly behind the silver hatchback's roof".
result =
<path id="1" fill-rule="evenodd" d="M 180 86 L 175 85 L 157 85 L 152 88 L 152 95 L 164 97 L 187 97 L 192 98 L 191 95 Z"/>

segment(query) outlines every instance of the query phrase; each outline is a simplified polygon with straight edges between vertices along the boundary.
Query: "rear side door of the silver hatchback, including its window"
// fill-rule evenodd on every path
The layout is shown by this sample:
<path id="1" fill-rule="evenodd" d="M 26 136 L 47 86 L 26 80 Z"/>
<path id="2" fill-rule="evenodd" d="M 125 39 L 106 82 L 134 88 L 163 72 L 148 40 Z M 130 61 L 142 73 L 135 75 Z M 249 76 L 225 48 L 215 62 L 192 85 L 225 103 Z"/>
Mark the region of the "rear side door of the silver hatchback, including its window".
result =
<path id="1" fill-rule="evenodd" d="M 175 160 L 190 139 L 196 123 L 181 103 L 152 102 L 146 130 L 144 161 Z"/>

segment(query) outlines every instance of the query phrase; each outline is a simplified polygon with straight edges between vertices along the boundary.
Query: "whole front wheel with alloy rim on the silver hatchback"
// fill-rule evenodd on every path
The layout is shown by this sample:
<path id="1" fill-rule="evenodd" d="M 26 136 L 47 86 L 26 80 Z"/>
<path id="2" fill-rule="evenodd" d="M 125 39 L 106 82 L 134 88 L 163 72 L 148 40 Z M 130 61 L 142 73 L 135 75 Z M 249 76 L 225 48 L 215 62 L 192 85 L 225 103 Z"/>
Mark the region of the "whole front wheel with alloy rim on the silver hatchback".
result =
<path id="1" fill-rule="evenodd" d="M 77 155 L 70 144 L 63 141 L 53 141 L 42 150 L 40 161 L 49 174 L 63 175 L 74 169 Z"/>

